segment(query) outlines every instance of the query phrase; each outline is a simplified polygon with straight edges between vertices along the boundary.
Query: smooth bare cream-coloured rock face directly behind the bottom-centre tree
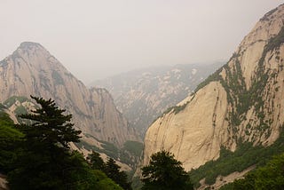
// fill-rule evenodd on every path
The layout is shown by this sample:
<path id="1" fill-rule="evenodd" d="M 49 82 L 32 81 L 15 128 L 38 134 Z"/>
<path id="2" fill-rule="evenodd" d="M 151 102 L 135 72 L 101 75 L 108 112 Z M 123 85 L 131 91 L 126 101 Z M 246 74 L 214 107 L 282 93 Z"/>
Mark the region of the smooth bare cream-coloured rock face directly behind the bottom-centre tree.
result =
<path id="1" fill-rule="evenodd" d="M 161 149 L 175 154 L 186 169 L 216 159 L 224 144 L 227 123 L 226 93 L 220 83 L 209 83 L 177 115 L 159 118 L 146 132 L 144 162 Z M 214 114 L 216 113 L 216 115 Z"/>

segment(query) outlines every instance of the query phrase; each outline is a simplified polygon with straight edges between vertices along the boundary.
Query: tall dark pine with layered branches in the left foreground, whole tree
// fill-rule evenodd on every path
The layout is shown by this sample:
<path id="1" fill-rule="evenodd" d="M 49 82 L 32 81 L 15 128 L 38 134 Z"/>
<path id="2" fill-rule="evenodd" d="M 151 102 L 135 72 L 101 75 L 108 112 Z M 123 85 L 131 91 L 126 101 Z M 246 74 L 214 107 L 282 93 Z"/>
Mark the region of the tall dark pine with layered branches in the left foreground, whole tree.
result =
<path id="1" fill-rule="evenodd" d="M 65 189 L 74 167 L 68 144 L 78 142 L 81 131 L 70 123 L 72 115 L 63 115 L 64 109 L 54 100 L 32 97 L 40 105 L 32 114 L 20 115 L 32 124 L 20 123 L 17 128 L 25 135 L 21 154 L 8 173 L 12 189 Z"/>

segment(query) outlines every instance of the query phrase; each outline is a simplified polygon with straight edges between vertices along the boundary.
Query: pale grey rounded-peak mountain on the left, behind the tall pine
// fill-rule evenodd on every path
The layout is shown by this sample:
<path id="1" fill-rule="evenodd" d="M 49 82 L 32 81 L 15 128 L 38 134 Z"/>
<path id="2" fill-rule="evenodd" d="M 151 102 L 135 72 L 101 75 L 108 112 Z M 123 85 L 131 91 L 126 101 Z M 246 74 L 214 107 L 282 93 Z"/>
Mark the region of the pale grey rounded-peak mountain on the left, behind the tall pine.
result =
<path id="1" fill-rule="evenodd" d="M 41 44 L 22 43 L 0 61 L 0 94 L 0 102 L 30 95 L 54 99 L 73 115 L 75 128 L 83 131 L 83 139 L 89 134 L 94 140 L 116 146 L 127 140 L 139 140 L 108 91 L 88 89 Z"/>

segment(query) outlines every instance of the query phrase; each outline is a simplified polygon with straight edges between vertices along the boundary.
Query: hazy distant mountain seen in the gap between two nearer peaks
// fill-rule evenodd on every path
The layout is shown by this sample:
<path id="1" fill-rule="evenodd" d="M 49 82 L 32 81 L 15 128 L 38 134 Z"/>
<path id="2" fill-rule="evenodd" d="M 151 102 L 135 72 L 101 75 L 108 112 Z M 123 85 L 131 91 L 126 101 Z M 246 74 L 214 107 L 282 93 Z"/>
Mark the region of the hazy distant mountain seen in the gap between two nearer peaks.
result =
<path id="1" fill-rule="evenodd" d="M 115 105 L 137 131 L 147 127 L 167 107 L 193 92 L 209 74 L 224 63 L 148 67 L 114 75 L 92 83 L 114 96 Z"/>

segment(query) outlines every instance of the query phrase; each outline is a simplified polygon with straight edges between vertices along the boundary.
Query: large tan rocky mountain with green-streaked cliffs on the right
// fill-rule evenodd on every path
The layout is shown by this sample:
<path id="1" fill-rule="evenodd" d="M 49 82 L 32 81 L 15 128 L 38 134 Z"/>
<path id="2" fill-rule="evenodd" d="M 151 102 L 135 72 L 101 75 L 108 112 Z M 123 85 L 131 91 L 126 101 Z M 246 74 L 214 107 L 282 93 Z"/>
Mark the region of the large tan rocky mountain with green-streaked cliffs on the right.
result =
<path id="1" fill-rule="evenodd" d="M 217 161 L 221 154 L 223 160 L 225 156 L 230 160 L 231 154 L 245 147 L 274 145 L 284 124 L 283 23 L 284 5 L 266 13 L 225 66 L 149 127 L 143 165 L 151 154 L 167 150 L 183 162 L 185 170 L 192 170 Z M 215 165 L 211 164 L 210 172 Z"/>

